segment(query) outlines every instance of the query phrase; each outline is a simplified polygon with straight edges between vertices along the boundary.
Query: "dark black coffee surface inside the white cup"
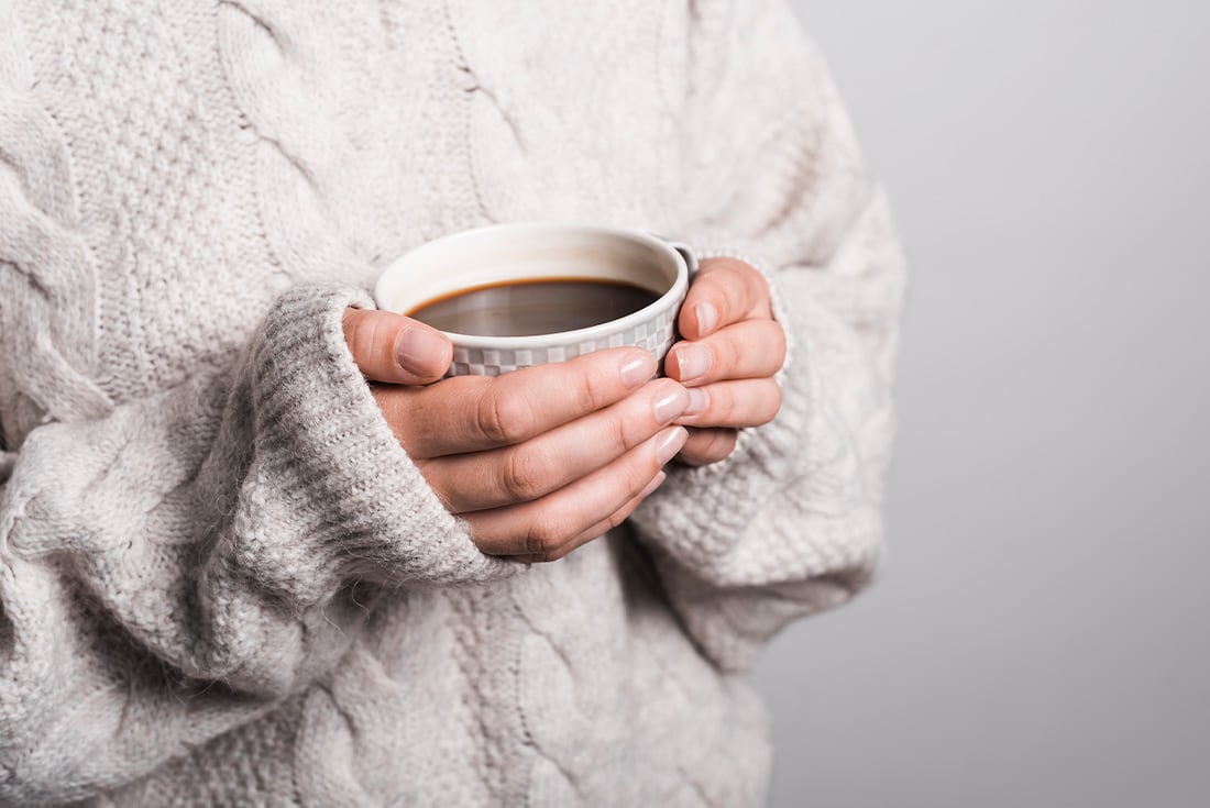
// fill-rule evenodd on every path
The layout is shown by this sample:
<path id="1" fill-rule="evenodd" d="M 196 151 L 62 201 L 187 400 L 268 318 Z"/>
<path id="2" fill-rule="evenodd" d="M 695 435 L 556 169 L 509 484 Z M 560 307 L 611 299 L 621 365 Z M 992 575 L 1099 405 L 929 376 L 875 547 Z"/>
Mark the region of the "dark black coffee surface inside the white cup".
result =
<path id="1" fill-rule="evenodd" d="M 658 299 L 655 292 L 621 281 L 538 278 L 456 292 L 408 316 L 455 334 L 530 336 L 599 325 Z"/>

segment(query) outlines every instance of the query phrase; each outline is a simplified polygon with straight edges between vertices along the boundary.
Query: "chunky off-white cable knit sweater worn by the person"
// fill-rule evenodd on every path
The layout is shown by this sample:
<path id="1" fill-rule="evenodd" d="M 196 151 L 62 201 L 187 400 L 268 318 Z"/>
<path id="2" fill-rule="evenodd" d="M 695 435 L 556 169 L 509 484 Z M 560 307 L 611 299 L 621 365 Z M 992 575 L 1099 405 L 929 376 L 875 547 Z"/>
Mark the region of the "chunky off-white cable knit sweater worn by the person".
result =
<path id="1" fill-rule="evenodd" d="M 340 316 L 534 219 L 748 258 L 791 348 L 730 460 L 525 567 Z M 901 290 L 777 0 L 0 0 L 0 804 L 762 803 L 743 676 L 870 577 Z"/>

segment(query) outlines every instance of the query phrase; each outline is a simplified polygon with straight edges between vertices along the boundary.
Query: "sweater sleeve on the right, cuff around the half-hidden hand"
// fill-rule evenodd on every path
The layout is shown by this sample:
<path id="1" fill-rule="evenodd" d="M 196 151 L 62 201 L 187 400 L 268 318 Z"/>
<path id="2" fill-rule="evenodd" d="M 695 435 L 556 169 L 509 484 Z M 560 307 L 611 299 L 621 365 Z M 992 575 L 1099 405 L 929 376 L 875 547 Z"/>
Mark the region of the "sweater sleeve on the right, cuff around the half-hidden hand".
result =
<path id="1" fill-rule="evenodd" d="M 674 467 L 632 526 L 690 635 L 743 670 L 786 622 L 871 578 L 905 282 L 886 197 L 789 7 L 725 5 L 703 4 L 690 48 L 686 235 L 770 279 L 783 406 L 728 460 Z"/>

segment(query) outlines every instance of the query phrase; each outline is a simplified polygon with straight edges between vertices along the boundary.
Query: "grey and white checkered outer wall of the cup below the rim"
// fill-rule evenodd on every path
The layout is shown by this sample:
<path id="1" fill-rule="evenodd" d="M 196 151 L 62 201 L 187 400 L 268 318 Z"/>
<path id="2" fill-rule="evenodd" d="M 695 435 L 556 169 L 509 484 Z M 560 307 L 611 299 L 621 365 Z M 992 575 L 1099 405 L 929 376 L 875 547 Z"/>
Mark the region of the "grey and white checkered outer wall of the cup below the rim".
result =
<path id="1" fill-rule="evenodd" d="M 448 376 L 499 376 L 509 370 L 529 368 L 547 362 L 575 359 L 592 351 L 618 348 L 634 345 L 645 348 L 663 362 L 668 348 L 676 341 L 676 314 L 680 300 L 662 300 L 669 305 L 661 306 L 649 319 L 582 342 L 552 341 L 549 345 L 526 348 L 484 348 L 459 345 L 454 342 L 454 364 Z"/>

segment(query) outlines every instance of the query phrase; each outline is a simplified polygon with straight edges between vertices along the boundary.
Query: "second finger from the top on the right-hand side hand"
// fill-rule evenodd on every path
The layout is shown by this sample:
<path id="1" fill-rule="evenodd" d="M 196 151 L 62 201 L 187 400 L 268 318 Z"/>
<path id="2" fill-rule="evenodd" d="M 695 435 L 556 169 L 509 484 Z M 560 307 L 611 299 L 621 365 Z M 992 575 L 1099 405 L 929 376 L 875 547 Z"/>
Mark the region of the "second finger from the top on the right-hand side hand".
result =
<path id="1" fill-rule="evenodd" d="M 664 359 L 664 374 L 698 387 L 728 379 L 772 376 L 785 362 L 785 331 L 772 319 L 728 325 L 695 342 L 678 342 Z"/>

